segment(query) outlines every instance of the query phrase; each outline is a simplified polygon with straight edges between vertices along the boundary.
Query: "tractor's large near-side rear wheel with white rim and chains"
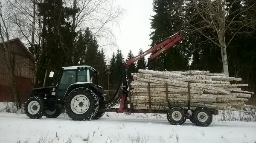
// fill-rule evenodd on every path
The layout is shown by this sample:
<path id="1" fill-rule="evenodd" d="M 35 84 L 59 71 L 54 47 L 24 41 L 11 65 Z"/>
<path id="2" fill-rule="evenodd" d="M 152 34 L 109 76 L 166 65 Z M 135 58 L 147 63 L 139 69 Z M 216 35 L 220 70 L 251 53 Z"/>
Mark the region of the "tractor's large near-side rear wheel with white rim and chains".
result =
<path id="1" fill-rule="evenodd" d="M 92 90 L 79 87 L 68 94 L 65 109 L 72 120 L 88 121 L 98 112 L 99 98 Z"/>

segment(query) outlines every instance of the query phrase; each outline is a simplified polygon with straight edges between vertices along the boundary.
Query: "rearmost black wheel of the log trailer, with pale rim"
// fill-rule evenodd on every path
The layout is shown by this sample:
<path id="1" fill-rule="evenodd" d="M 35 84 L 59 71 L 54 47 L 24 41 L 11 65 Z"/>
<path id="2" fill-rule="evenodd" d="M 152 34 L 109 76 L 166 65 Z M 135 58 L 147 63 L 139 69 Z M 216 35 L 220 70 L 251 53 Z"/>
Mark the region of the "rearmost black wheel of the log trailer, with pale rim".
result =
<path id="1" fill-rule="evenodd" d="M 212 123 L 212 112 L 207 108 L 198 107 L 192 114 L 192 121 L 197 126 L 209 126 Z"/>

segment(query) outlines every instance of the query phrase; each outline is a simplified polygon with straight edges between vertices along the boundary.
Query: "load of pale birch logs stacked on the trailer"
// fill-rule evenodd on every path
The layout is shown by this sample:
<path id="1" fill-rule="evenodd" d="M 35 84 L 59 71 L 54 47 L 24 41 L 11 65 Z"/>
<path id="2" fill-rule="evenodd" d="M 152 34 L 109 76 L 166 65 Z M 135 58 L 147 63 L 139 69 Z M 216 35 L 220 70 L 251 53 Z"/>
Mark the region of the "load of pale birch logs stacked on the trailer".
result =
<path id="1" fill-rule="evenodd" d="M 172 106 L 242 110 L 252 92 L 248 84 L 231 84 L 241 78 L 209 71 L 153 71 L 132 73 L 130 98 L 133 109 L 169 109 Z"/>

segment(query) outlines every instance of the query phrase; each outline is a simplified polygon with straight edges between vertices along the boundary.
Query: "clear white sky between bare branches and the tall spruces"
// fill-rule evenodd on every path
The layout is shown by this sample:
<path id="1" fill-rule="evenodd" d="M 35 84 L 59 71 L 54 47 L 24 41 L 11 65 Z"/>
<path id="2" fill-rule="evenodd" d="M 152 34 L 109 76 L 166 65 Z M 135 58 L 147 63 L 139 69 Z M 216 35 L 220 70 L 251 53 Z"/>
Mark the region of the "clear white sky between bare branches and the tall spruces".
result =
<path id="1" fill-rule="evenodd" d="M 126 59 L 131 49 L 134 56 L 137 56 L 139 49 L 143 51 L 150 48 L 150 22 L 153 12 L 153 0 L 116 0 L 115 2 L 126 10 L 118 27 L 113 27 L 116 36 L 116 44 Z M 106 51 L 107 60 L 111 58 L 113 52 L 116 53 L 117 48 L 108 48 Z"/>

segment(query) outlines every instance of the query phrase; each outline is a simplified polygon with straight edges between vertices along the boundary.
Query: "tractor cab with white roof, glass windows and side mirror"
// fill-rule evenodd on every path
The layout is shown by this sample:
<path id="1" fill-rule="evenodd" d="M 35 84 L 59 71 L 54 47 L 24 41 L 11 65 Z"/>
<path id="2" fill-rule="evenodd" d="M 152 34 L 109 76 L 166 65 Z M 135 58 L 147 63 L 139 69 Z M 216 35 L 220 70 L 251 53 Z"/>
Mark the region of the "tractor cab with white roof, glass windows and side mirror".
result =
<path id="1" fill-rule="evenodd" d="M 53 76 L 53 72 L 50 73 L 49 77 Z M 56 87 L 56 97 L 58 100 L 63 100 L 65 95 L 67 96 L 67 90 L 71 86 L 76 84 L 93 84 L 98 87 L 98 72 L 90 66 L 72 66 L 62 67 L 59 81 Z"/>

